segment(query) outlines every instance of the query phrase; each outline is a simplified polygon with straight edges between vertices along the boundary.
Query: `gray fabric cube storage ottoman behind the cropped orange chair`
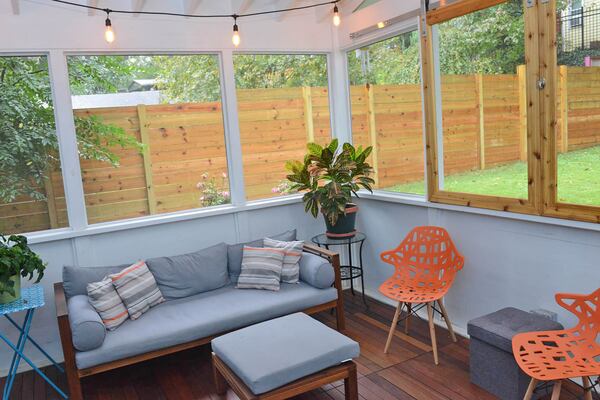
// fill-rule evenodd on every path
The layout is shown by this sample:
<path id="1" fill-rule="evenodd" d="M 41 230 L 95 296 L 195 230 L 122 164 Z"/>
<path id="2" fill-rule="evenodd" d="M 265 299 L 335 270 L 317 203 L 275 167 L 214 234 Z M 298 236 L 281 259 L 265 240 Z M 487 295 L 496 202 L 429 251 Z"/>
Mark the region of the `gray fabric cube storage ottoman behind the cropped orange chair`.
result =
<path id="1" fill-rule="evenodd" d="M 469 321 L 471 382 L 502 400 L 521 400 L 531 378 L 520 370 L 513 357 L 513 336 L 562 328 L 558 322 L 516 308 L 504 308 Z"/>

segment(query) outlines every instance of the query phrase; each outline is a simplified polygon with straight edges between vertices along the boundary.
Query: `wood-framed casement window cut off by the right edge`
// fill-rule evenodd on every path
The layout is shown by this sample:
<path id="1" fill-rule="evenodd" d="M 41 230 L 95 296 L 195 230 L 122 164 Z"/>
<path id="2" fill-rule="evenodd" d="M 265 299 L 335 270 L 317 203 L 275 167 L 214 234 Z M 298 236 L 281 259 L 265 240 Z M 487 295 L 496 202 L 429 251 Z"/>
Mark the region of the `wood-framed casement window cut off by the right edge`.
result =
<path id="1" fill-rule="evenodd" d="M 540 43 L 541 65 L 547 66 L 541 71 L 546 80 L 541 126 L 547 139 L 542 149 L 544 213 L 600 222 L 600 33 L 574 28 L 563 3 L 539 5 L 540 24 L 547 30 Z M 595 14 L 586 9 L 573 18 L 593 26 Z"/>

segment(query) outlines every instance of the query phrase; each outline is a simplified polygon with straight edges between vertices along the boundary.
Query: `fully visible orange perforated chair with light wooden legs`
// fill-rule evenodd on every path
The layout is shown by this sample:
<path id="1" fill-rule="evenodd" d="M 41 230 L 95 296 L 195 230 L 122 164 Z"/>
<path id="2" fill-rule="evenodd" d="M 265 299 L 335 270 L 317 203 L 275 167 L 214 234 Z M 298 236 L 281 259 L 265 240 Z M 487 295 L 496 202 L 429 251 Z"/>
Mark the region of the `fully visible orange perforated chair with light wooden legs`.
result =
<path id="1" fill-rule="evenodd" d="M 406 333 L 410 314 L 414 312 L 413 304 L 426 304 L 433 359 L 437 365 L 439 361 L 433 324 L 433 312 L 437 311 L 435 302 L 439 304 L 452 340 L 456 342 L 456 335 L 441 300 L 450 289 L 456 273 L 462 269 L 463 256 L 456 250 L 444 228 L 420 226 L 410 231 L 396 249 L 381 253 L 381 259 L 392 264 L 396 271 L 381 285 L 379 291 L 398 301 L 384 353 L 388 352 L 392 343 L 403 304 L 406 304 L 408 314 L 404 325 Z"/>

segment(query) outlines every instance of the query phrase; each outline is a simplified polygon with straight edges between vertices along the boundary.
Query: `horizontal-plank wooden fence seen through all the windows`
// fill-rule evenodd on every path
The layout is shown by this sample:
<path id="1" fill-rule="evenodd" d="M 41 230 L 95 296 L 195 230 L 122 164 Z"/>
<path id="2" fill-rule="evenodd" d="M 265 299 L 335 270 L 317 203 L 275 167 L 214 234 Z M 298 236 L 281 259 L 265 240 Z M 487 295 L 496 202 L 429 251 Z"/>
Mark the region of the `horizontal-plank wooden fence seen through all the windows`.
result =
<path id="1" fill-rule="evenodd" d="M 560 77 L 560 151 L 600 143 L 600 68 L 562 67 Z M 523 68 L 516 75 L 443 77 L 446 174 L 525 160 L 524 87 Z M 422 180 L 419 85 L 354 86 L 350 94 L 354 142 L 375 147 L 377 187 Z M 308 141 L 329 140 L 328 96 L 322 87 L 238 92 L 249 199 L 277 196 L 272 189 L 285 178 L 285 161 L 301 159 Z M 115 149 L 118 168 L 81 160 L 90 223 L 197 208 L 202 174 L 220 182 L 227 173 L 220 102 L 77 110 L 76 115 L 97 115 L 146 145 L 142 154 Z M 48 201 L 0 204 L 0 231 L 67 226 L 60 172 L 51 174 L 44 190 Z"/>

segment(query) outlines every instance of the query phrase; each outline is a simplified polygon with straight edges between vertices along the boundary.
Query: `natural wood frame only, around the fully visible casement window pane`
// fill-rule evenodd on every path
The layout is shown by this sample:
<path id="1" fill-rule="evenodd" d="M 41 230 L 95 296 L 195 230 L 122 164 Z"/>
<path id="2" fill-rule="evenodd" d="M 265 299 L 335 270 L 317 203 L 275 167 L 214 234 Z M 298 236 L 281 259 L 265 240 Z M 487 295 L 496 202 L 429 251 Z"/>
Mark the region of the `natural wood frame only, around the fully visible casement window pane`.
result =
<path id="1" fill-rule="evenodd" d="M 527 170 L 528 170 L 528 198 L 517 199 L 494 195 L 480 195 L 463 192 L 449 192 L 440 189 L 440 157 L 438 144 L 442 138 L 443 130 L 438 129 L 441 117 L 438 116 L 439 100 L 436 95 L 436 70 L 434 57 L 434 26 L 476 11 L 493 7 L 507 0 L 460 0 L 448 6 L 427 11 L 426 17 L 421 19 L 422 41 L 422 71 L 425 99 L 425 132 L 427 148 L 427 174 L 429 201 L 446 203 L 467 207 L 480 207 L 500 211 L 510 211 L 525 214 L 541 214 L 542 188 L 541 188 L 541 135 L 538 134 L 540 126 L 540 91 L 537 89 L 537 80 L 540 76 L 539 30 L 538 30 L 538 5 L 525 7 L 525 54 L 527 80 Z M 426 34 L 424 34 L 426 32 Z"/>

